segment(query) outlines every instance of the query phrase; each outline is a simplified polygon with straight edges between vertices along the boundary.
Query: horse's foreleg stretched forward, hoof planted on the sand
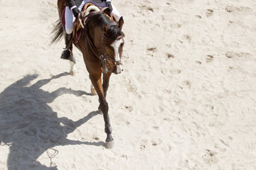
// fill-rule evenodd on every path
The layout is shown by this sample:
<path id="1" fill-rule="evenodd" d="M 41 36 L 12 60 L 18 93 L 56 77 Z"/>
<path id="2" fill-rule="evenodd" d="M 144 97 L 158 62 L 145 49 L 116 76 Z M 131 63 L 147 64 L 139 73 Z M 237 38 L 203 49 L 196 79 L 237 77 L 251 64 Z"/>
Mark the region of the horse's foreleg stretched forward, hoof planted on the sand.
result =
<path id="1" fill-rule="evenodd" d="M 97 76 L 90 75 L 90 79 L 92 81 L 92 85 L 95 87 L 95 91 L 97 91 L 97 95 L 99 96 L 99 101 L 100 101 L 99 109 L 102 111 L 103 118 L 104 118 L 104 121 L 105 121 L 105 132 L 107 133 L 105 147 L 111 148 L 114 145 L 114 139 L 111 135 L 112 127 L 110 125 L 110 116 L 108 114 L 109 107 L 108 107 L 108 103 L 106 101 L 106 98 L 104 96 L 101 74 L 97 75 Z"/>

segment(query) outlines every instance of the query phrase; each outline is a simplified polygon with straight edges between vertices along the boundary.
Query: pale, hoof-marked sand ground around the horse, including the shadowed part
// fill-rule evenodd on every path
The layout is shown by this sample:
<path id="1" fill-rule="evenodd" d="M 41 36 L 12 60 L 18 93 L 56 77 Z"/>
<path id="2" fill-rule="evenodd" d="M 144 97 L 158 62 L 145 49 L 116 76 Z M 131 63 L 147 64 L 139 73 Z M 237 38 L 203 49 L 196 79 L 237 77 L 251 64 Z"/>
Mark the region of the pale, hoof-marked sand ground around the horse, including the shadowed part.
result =
<path id="1" fill-rule="evenodd" d="M 81 53 L 49 45 L 57 1 L 0 1 L 0 169 L 256 169 L 254 0 L 124 0 L 124 72 L 107 101 Z"/>

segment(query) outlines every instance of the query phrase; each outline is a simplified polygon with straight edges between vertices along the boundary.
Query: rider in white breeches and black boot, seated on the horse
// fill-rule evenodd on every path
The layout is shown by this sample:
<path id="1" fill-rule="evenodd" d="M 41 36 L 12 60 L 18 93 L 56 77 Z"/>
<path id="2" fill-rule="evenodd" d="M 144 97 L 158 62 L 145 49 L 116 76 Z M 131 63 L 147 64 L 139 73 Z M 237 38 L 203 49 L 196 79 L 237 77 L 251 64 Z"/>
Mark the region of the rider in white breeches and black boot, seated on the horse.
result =
<path id="1" fill-rule="evenodd" d="M 65 0 L 65 2 L 65 49 L 63 50 L 60 58 L 65 60 L 73 60 L 73 47 L 71 44 L 68 49 L 68 45 L 73 36 L 72 33 L 75 18 L 78 18 L 79 13 L 81 13 L 82 7 L 85 6 L 85 4 L 92 3 L 95 4 L 95 6 L 99 6 L 101 8 L 108 7 L 107 13 L 112 13 L 115 18 L 117 18 L 117 21 L 119 21 L 120 15 L 117 11 L 117 8 L 115 8 L 112 4 L 111 0 Z"/>

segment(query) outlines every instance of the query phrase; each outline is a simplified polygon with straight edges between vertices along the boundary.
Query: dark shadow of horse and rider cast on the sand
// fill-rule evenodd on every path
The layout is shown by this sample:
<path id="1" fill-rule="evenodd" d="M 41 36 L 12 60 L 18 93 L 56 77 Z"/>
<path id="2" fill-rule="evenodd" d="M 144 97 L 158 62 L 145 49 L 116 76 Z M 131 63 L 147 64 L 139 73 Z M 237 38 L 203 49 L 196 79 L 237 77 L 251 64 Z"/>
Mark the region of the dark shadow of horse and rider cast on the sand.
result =
<path id="1" fill-rule="evenodd" d="M 91 95 L 85 91 L 60 88 L 49 93 L 41 86 L 48 84 L 52 79 L 67 76 L 59 74 L 51 79 L 41 79 L 35 84 L 28 84 L 38 75 L 28 75 L 8 86 L 0 94 L 0 144 L 9 146 L 7 166 L 12 169 L 57 169 L 52 166 L 51 159 L 58 154 L 52 149 L 55 146 L 65 145 L 95 145 L 103 146 L 104 142 L 82 142 L 68 140 L 67 136 L 80 125 L 97 115 L 93 111 L 78 121 L 68 118 L 58 118 L 47 103 L 51 103 L 62 94 L 75 96 Z M 48 149 L 55 151 L 51 156 Z M 38 157 L 47 152 L 50 167 L 37 162 Z"/>

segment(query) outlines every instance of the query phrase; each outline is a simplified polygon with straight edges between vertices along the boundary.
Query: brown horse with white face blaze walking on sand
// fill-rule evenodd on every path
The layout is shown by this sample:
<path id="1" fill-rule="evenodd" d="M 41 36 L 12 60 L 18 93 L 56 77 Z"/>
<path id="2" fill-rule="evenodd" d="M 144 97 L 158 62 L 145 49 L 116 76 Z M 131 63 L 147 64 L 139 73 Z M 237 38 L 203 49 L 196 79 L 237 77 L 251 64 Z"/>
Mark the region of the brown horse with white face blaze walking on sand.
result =
<path id="1" fill-rule="evenodd" d="M 54 36 L 52 42 L 60 40 L 65 31 L 60 22 L 64 8 L 65 0 L 58 0 L 60 20 L 57 21 L 58 24 L 53 29 Z M 73 38 L 73 44 L 82 52 L 90 80 L 99 96 L 99 110 L 103 113 L 105 132 L 107 133 L 105 145 L 107 148 L 113 146 L 114 139 L 111 135 L 112 128 L 106 96 L 111 74 L 122 72 L 121 57 L 124 46 L 123 24 L 122 17 L 118 22 L 115 22 L 110 17 L 107 17 L 104 11 L 91 12 L 82 19 L 82 26 L 84 28 L 80 40 L 76 42 Z"/>

